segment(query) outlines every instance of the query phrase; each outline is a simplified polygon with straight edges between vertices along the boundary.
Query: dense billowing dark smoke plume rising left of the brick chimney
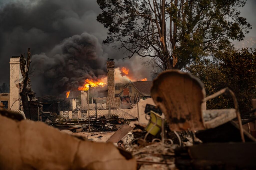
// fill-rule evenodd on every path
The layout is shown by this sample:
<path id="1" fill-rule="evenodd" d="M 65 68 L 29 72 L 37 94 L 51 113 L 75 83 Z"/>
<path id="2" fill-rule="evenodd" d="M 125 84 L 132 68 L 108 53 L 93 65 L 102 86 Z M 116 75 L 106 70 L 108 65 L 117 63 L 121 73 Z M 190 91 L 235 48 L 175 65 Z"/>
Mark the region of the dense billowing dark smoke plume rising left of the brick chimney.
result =
<path id="1" fill-rule="evenodd" d="M 73 35 L 56 45 L 48 54 L 32 56 L 37 82 L 51 94 L 77 90 L 85 79 L 106 75 L 107 54 L 98 39 L 88 33 Z"/>

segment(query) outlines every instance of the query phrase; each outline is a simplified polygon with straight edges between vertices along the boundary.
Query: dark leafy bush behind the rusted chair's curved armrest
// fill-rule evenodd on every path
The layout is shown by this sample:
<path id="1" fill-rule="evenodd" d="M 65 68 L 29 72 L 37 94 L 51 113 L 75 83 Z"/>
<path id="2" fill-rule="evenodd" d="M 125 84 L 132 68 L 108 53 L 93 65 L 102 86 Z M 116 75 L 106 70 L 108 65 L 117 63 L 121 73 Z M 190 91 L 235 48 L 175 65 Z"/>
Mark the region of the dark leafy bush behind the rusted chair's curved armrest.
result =
<path id="1" fill-rule="evenodd" d="M 256 50 L 229 48 L 214 58 L 197 60 L 187 70 L 205 84 L 207 96 L 229 87 L 237 97 L 241 114 L 251 110 L 251 99 L 256 98 Z M 232 99 L 225 95 L 207 102 L 207 109 L 233 107 Z"/>

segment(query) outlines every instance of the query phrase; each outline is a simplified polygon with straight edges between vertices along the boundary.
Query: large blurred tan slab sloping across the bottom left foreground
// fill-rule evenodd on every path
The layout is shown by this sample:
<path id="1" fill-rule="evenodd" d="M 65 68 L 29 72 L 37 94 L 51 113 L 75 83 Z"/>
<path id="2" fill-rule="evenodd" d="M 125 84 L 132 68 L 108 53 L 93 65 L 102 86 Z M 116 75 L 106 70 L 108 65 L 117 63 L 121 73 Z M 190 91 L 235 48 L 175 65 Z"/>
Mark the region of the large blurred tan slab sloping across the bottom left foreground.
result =
<path id="1" fill-rule="evenodd" d="M 132 155 L 111 143 L 80 140 L 44 123 L 13 120 L 0 112 L 1 169 L 136 169 Z"/>

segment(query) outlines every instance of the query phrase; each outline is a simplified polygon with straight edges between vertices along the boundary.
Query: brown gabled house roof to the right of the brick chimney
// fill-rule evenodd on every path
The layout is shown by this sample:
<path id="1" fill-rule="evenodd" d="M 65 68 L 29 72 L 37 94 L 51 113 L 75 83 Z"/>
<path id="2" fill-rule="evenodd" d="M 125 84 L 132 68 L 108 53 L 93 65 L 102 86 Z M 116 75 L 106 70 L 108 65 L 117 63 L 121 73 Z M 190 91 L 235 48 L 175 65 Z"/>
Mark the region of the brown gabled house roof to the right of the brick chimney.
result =
<path id="1" fill-rule="evenodd" d="M 150 90 L 153 85 L 153 81 L 130 81 L 125 85 L 124 88 L 127 87 L 128 84 L 132 83 L 132 85 L 143 95 L 150 96 Z M 119 93 L 118 96 L 123 92 L 123 90 Z"/>

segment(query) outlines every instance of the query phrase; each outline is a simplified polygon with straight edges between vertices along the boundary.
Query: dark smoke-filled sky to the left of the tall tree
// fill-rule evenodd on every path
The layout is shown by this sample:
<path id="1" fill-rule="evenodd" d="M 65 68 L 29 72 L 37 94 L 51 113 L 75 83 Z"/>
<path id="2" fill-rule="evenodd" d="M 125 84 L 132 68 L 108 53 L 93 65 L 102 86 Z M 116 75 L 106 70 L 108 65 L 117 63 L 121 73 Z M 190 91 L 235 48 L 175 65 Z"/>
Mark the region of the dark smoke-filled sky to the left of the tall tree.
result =
<path id="1" fill-rule="evenodd" d="M 122 60 L 122 50 L 102 45 L 107 29 L 96 20 L 101 12 L 96 0 L 2 0 L 0 5 L 0 83 L 9 82 L 10 56 L 26 55 L 28 47 L 37 96 L 77 89 L 86 78 L 106 75 L 108 58 L 150 79 L 139 57 Z"/>

